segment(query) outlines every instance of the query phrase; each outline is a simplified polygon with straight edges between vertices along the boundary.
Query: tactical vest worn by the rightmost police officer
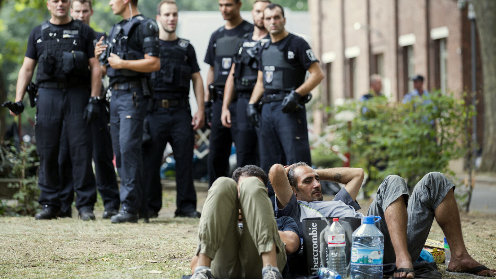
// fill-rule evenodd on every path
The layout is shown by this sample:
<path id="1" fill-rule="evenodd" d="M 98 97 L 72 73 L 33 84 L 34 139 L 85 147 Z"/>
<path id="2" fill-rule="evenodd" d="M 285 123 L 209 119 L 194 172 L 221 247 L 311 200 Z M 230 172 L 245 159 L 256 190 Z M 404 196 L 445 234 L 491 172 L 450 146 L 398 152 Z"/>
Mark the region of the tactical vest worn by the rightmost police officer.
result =
<path id="1" fill-rule="evenodd" d="M 307 70 L 303 67 L 295 68 L 288 63 L 287 59 L 289 43 L 295 37 L 292 36 L 284 44 L 265 44 L 262 49 L 263 88 L 269 91 L 291 91 L 298 88 L 305 81 Z M 294 58 L 296 59 L 296 58 Z"/>

